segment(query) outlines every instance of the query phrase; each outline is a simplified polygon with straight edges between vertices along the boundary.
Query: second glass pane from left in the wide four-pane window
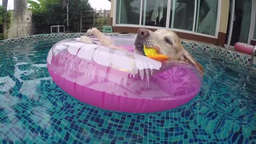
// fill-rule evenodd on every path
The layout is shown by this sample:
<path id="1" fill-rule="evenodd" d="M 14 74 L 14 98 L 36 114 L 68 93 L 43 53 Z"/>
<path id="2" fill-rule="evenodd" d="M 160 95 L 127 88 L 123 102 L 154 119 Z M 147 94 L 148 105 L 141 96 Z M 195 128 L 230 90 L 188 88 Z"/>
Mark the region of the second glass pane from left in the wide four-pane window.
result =
<path id="1" fill-rule="evenodd" d="M 168 0 L 143 0 L 141 25 L 166 27 Z"/>

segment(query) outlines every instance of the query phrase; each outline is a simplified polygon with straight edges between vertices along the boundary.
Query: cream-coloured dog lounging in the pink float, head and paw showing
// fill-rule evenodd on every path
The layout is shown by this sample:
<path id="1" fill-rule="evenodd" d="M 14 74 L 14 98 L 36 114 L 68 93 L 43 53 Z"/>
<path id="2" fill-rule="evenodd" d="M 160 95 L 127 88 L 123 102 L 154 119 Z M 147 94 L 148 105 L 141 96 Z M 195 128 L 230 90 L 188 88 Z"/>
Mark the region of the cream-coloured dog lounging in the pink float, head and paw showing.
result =
<path id="1" fill-rule="evenodd" d="M 92 43 L 90 38 L 87 37 L 92 35 L 99 39 L 102 46 L 124 50 L 122 47 L 114 45 L 111 40 L 97 28 L 87 30 L 86 36 L 82 36 L 80 41 Z M 202 76 L 204 75 L 203 66 L 183 48 L 180 38 L 171 30 L 158 29 L 156 31 L 151 31 L 140 28 L 134 42 L 135 52 L 142 54 L 143 45 L 156 49 L 158 54 L 166 55 L 170 61 L 190 63 L 196 67 Z"/>

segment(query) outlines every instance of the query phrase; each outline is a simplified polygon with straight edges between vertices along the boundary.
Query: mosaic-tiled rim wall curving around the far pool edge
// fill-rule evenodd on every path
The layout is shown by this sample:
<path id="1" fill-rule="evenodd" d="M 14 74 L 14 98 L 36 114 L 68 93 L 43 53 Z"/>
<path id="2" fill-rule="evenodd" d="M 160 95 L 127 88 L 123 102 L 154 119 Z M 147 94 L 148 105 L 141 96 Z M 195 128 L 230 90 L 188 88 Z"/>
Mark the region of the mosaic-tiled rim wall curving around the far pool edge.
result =
<path id="1" fill-rule="evenodd" d="M 39 34 L 39 35 L 32 35 L 32 36 L 25 36 L 25 37 L 18 37 L 18 38 L 12 38 L 12 39 L 5 39 L 0 41 L 0 45 L 6 45 L 6 44 L 13 44 L 13 43 L 25 43 L 25 42 L 31 42 L 31 41 L 46 41 L 51 39 L 65 39 L 65 38 L 76 38 L 84 36 L 85 33 L 72 33 L 72 34 Z M 134 36 L 132 34 L 106 34 L 108 36 Z M 206 52 L 214 52 L 218 53 L 219 55 L 222 55 L 226 58 L 228 58 L 230 61 L 233 61 L 235 63 L 238 63 L 242 66 L 249 66 L 250 57 L 248 55 L 244 55 L 241 53 L 237 53 L 234 51 L 226 50 L 223 47 L 210 45 L 206 43 L 197 43 L 197 42 L 189 42 L 187 39 L 182 39 L 181 44 L 186 49 L 196 49 Z M 256 70 L 256 59 L 253 61 L 252 70 Z"/>

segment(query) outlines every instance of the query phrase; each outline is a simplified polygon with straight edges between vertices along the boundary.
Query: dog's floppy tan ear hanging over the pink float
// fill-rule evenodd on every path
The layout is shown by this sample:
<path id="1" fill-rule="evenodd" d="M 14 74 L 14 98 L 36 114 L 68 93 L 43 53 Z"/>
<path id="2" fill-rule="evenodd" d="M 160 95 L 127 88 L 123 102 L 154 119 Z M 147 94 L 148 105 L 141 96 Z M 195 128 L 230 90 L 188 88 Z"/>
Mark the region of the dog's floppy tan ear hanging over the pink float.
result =
<path id="1" fill-rule="evenodd" d="M 197 62 L 186 50 L 183 50 L 182 57 L 183 57 L 183 59 L 185 59 L 185 61 L 194 65 L 202 76 L 204 75 L 203 66 L 199 62 Z"/>

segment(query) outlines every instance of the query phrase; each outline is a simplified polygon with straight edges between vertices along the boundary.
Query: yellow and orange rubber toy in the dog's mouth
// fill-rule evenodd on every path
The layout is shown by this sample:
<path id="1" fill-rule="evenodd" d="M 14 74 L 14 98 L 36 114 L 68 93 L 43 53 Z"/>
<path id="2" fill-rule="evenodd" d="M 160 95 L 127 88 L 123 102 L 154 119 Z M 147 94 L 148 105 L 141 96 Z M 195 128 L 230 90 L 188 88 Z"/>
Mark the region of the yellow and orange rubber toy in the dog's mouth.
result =
<path id="1" fill-rule="evenodd" d="M 142 52 L 146 57 L 154 59 L 156 61 L 164 62 L 166 60 L 169 60 L 169 58 L 166 57 L 166 55 L 158 54 L 154 48 L 146 47 L 146 45 L 143 46 Z"/>

